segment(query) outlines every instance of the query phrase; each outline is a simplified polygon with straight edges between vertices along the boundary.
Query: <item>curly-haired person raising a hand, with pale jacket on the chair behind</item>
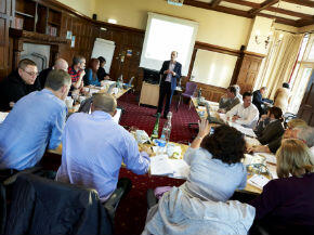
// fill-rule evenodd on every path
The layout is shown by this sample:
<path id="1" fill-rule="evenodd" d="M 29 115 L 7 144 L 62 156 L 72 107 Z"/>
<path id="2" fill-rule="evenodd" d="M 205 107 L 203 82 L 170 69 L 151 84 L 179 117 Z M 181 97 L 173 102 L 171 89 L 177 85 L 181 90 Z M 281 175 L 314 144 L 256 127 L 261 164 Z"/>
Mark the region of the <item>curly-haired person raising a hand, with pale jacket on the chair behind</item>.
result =
<path id="1" fill-rule="evenodd" d="M 184 155 L 191 166 L 186 182 L 165 193 L 149 209 L 142 235 L 161 235 L 165 231 L 186 235 L 247 234 L 254 210 L 227 201 L 236 188 L 247 183 L 246 167 L 240 162 L 244 136 L 228 126 L 215 128 L 211 135 L 209 131 L 208 121 L 201 120 L 198 135 Z"/>

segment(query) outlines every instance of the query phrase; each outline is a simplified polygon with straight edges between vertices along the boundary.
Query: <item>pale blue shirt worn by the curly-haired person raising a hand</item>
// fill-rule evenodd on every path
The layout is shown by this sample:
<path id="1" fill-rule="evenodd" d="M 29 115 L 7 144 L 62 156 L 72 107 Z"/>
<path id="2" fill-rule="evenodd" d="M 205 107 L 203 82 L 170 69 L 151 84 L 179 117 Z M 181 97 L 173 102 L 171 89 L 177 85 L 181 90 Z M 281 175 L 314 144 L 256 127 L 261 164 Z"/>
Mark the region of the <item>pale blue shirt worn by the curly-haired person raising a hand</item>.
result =
<path id="1" fill-rule="evenodd" d="M 205 148 L 188 148 L 184 160 L 191 166 L 189 174 L 181 188 L 202 200 L 226 201 L 235 190 L 247 184 L 247 170 L 241 162 L 225 164 Z"/>

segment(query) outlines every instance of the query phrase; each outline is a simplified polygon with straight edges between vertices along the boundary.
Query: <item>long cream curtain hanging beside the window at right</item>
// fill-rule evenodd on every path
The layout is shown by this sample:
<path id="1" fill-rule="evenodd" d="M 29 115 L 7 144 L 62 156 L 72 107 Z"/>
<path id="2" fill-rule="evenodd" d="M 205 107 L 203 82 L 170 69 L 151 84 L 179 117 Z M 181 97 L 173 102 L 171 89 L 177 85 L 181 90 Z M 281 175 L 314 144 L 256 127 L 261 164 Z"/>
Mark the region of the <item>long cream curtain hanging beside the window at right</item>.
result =
<path id="1" fill-rule="evenodd" d="M 270 99 L 274 97 L 283 82 L 289 80 L 303 37 L 303 34 L 274 31 L 269 55 L 260 74 L 260 87 L 267 87 Z"/>

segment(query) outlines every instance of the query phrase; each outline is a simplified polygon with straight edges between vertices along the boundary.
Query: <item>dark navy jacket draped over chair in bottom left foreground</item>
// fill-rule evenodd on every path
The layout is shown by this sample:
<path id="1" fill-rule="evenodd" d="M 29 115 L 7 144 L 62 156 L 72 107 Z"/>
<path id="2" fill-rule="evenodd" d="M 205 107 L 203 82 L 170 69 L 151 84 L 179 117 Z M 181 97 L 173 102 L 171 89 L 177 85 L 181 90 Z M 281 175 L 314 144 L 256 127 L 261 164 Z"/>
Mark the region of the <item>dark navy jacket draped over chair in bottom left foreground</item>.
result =
<path id="1" fill-rule="evenodd" d="M 94 190 L 24 173 L 12 195 L 4 234 L 113 234 Z"/>

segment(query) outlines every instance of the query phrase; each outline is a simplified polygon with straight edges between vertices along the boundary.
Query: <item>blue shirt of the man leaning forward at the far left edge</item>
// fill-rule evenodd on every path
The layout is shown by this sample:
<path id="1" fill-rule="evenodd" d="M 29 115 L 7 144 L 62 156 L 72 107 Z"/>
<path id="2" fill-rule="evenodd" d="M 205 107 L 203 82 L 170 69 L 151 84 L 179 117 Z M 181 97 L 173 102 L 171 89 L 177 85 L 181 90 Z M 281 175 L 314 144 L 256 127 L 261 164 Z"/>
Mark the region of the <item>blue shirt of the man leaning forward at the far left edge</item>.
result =
<path id="1" fill-rule="evenodd" d="M 21 99 L 0 125 L 0 169 L 34 167 L 61 143 L 67 108 L 50 90 Z"/>

